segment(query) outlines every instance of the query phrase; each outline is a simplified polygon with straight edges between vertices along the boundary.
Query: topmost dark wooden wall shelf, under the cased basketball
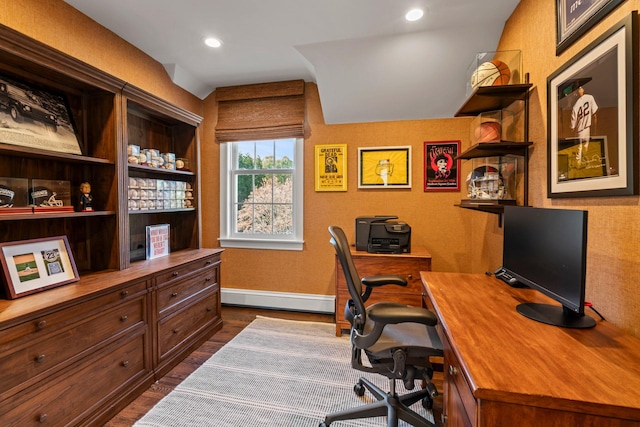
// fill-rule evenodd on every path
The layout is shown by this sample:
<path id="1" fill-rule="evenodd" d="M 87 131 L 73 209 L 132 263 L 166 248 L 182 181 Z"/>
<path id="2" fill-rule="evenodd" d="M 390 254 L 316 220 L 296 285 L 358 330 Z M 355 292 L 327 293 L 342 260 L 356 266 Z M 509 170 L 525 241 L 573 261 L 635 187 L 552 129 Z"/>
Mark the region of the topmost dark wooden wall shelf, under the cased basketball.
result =
<path id="1" fill-rule="evenodd" d="M 531 83 L 503 86 L 480 86 L 460 107 L 455 117 L 477 116 L 485 111 L 501 110 L 514 101 L 524 101 Z"/>

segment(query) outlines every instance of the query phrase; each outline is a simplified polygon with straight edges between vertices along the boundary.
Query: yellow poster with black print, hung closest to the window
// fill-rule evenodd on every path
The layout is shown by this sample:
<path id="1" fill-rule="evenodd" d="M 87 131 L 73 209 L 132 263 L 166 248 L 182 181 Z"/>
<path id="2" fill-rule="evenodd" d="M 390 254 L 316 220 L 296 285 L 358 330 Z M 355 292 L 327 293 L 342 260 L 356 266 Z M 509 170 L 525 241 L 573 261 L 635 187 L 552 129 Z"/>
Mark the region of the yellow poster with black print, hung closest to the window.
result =
<path id="1" fill-rule="evenodd" d="M 316 191 L 347 191 L 347 144 L 316 145 Z"/>

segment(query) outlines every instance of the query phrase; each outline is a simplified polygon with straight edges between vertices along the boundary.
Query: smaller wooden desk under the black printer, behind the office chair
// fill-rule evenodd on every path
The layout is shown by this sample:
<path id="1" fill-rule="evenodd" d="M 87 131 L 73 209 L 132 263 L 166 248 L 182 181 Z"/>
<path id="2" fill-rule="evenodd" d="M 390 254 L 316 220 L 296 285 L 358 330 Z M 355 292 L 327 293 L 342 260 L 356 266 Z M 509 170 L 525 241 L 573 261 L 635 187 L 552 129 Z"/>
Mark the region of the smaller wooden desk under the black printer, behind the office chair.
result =
<path id="1" fill-rule="evenodd" d="M 351 256 L 360 277 L 380 274 L 395 274 L 407 278 L 407 287 L 388 285 L 375 289 L 366 305 L 380 301 L 422 305 L 422 282 L 420 271 L 431 270 L 431 254 L 421 246 L 412 246 L 409 254 L 370 254 L 351 247 Z M 344 318 L 344 306 L 350 299 L 342 266 L 336 256 L 336 335 L 348 330 L 351 325 Z"/>

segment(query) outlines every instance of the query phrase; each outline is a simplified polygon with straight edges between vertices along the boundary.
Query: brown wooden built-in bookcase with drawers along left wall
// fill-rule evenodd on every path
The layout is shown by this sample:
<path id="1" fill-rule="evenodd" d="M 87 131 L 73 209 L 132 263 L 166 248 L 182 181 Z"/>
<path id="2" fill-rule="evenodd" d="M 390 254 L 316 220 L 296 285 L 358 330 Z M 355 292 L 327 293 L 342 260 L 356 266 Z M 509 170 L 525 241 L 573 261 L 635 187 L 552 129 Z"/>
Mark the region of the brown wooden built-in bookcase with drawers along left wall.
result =
<path id="1" fill-rule="evenodd" d="M 0 424 L 101 425 L 222 327 L 222 250 L 201 248 L 202 118 L 3 26 L 0 77 L 62 96 L 82 151 L 0 133 L 0 177 L 68 181 L 76 207 L 81 183 L 93 195 L 91 212 L 0 208 L 1 242 L 67 236 L 80 276 L 0 299 Z M 189 170 L 130 164 L 129 144 L 175 153 Z M 189 206 L 130 210 L 131 178 L 187 183 Z M 146 260 L 154 224 L 170 225 L 170 254 Z"/>

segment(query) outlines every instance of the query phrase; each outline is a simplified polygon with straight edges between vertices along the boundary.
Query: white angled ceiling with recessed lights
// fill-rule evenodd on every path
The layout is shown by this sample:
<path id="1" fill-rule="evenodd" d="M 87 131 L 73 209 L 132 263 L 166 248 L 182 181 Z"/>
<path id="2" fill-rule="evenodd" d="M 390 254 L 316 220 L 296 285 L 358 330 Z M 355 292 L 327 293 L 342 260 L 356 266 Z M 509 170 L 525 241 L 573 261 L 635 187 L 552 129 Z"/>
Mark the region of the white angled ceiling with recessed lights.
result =
<path id="1" fill-rule="evenodd" d="M 217 87 L 317 83 L 326 123 L 452 117 L 475 54 L 519 0 L 66 0 L 205 98 Z M 421 7 L 425 16 L 407 22 Z M 206 37 L 223 45 L 212 49 Z"/>

